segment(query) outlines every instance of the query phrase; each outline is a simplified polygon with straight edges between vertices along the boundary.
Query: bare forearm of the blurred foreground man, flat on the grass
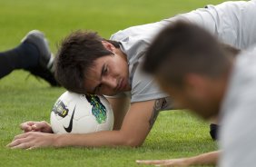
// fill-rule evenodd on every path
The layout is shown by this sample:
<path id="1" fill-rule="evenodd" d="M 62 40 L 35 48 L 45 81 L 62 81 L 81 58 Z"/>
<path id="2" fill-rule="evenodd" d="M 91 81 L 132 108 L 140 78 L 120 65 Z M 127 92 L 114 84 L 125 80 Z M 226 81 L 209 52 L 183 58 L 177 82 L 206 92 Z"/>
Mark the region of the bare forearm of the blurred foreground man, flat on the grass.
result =
<path id="1" fill-rule="evenodd" d="M 139 164 L 162 165 L 162 166 L 191 166 L 191 165 L 216 165 L 221 151 L 202 153 L 189 158 L 171 160 L 138 160 Z"/>

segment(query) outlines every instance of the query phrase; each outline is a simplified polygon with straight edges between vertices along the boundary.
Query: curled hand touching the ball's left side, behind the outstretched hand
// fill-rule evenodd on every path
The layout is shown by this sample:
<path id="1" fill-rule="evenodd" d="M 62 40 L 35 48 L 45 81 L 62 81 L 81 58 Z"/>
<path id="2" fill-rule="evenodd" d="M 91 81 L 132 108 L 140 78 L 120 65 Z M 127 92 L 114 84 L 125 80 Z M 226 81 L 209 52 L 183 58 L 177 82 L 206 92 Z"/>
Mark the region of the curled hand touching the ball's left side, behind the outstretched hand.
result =
<path id="1" fill-rule="evenodd" d="M 24 131 L 24 133 L 28 133 L 28 132 L 53 133 L 51 125 L 44 121 L 21 123 L 20 128 Z"/>

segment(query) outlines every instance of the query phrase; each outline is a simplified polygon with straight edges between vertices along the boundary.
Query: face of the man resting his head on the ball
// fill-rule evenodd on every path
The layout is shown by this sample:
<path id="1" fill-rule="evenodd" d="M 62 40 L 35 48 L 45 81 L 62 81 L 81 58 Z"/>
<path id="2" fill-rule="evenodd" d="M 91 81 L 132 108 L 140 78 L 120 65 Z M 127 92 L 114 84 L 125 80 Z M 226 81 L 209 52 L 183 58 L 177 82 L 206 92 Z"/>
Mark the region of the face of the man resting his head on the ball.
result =
<path id="1" fill-rule="evenodd" d="M 129 69 L 122 55 L 113 54 L 100 57 L 85 74 L 88 93 L 114 95 L 131 90 Z"/>

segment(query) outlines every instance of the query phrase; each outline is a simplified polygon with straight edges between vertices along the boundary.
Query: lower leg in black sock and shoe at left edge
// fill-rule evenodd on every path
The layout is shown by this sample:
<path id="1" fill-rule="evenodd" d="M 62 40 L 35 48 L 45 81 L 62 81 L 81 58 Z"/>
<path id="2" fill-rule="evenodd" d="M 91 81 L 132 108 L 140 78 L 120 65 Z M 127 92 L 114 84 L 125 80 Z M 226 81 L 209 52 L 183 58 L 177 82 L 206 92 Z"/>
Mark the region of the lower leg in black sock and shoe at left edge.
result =
<path id="1" fill-rule="evenodd" d="M 24 69 L 36 77 L 43 78 L 52 86 L 59 86 L 54 79 L 54 56 L 44 34 L 33 30 L 25 35 L 22 44 L 0 54 L 0 78 L 15 69 Z"/>

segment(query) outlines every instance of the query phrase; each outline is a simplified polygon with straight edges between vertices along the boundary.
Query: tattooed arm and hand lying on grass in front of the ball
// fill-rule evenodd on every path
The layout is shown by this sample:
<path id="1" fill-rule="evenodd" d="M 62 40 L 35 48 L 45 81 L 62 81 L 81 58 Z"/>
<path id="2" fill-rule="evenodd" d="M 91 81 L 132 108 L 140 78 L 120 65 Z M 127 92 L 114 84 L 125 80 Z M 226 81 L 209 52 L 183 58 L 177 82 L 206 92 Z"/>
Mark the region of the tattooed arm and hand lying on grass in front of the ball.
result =
<path id="1" fill-rule="evenodd" d="M 88 134 L 52 134 L 30 132 L 19 134 L 8 146 L 12 148 L 64 147 L 64 146 L 140 146 L 154 123 L 159 110 L 164 109 L 167 100 L 152 100 L 132 103 L 118 131 Z"/>

